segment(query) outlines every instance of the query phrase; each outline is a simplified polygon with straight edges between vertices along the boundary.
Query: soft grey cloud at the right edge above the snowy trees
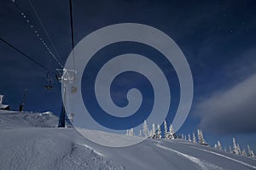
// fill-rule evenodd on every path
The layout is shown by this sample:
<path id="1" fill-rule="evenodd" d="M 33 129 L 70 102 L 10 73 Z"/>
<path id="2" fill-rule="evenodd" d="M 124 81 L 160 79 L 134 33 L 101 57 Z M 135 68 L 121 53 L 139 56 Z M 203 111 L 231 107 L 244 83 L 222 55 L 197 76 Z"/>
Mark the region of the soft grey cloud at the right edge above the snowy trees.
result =
<path id="1" fill-rule="evenodd" d="M 256 132 L 256 73 L 196 105 L 200 127 L 213 133 Z"/>

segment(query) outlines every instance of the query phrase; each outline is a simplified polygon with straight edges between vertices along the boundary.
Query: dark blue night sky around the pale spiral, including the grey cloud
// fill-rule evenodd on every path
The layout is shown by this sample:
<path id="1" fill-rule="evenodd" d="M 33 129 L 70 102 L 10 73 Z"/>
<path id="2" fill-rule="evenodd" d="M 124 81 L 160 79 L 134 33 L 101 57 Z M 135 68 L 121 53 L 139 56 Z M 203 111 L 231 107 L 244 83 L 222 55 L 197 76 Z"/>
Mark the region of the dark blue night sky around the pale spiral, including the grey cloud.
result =
<path id="1" fill-rule="evenodd" d="M 58 68 L 34 31 L 49 45 L 62 63 L 72 50 L 67 1 L 32 1 L 57 53 L 50 45 L 32 7 L 27 1 L 16 1 L 32 22 L 31 28 L 11 1 L 1 4 L 0 37 L 32 56 L 51 71 Z M 186 56 L 194 80 L 194 100 L 189 117 L 178 133 L 192 133 L 201 128 L 209 143 L 220 139 L 226 146 L 232 137 L 245 147 L 249 143 L 256 150 L 256 2 L 255 1 L 73 1 L 74 42 L 78 43 L 92 31 L 117 23 L 141 23 L 165 32 L 177 43 Z M 124 53 L 143 54 L 148 58 L 158 55 L 157 62 L 172 84 L 172 104 L 167 122 L 172 122 L 179 101 L 177 75 L 160 54 L 143 44 L 122 42 L 102 48 L 91 60 L 91 74 L 103 59 Z M 53 90 L 45 90 L 47 71 L 34 65 L 12 48 L 0 43 L 0 93 L 4 102 L 18 110 L 23 90 L 27 89 L 26 111 L 61 110 L 61 89 L 54 81 Z M 49 75 L 55 80 L 54 75 Z M 135 84 L 125 80 L 135 80 Z M 137 80 L 140 81 L 137 81 Z M 86 86 L 84 80 L 83 87 Z M 90 82 L 90 81 L 89 81 Z M 116 78 L 112 96 L 115 104 L 124 106 L 125 90 L 143 87 L 147 80 L 136 73 Z M 145 86 L 146 86 L 145 85 Z M 150 85 L 144 89 L 144 101 L 150 109 Z M 89 88 L 83 88 L 84 98 Z M 86 91 L 87 90 L 87 91 Z M 119 92 L 119 93 L 117 93 Z M 92 101 L 90 101 L 92 102 Z M 94 110 L 96 105 L 92 105 Z M 143 121 L 143 117 L 141 117 Z M 137 120 L 137 119 L 136 119 Z M 254 122 L 253 122 L 254 121 Z M 139 122 L 139 121 L 138 121 Z M 122 126 L 122 125 L 119 125 Z"/>

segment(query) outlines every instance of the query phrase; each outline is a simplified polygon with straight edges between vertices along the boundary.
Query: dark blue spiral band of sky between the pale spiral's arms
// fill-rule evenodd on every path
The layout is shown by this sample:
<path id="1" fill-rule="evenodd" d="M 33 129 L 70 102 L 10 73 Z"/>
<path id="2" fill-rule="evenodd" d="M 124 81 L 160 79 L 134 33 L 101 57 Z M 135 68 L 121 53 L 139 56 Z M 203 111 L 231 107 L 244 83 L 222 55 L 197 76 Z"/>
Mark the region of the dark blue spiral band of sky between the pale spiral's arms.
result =
<path id="1" fill-rule="evenodd" d="M 125 72 L 118 77 L 115 77 L 110 89 L 113 102 L 121 107 L 128 105 L 126 99 L 128 90 L 137 88 L 141 91 L 143 95 L 143 104 L 134 115 L 128 116 L 127 118 L 112 116 L 113 119 L 111 119 L 111 116 L 102 111 L 99 105 L 95 105 L 96 96 L 94 93 L 94 84 L 98 71 L 109 59 L 113 59 L 121 54 L 141 54 L 147 56 L 148 59 L 154 61 L 154 63 L 161 68 L 170 84 L 170 90 L 173 97 L 169 114 L 166 117 L 166 119 L 171 122 L 177 111 L 180 95 L 176 72 L 163 54 L 160 54 L 159 51 L 148 45 L 138 42 L 117 42 L 108 45 L 98 51 L 93 58 L 90 59 L 88 65 L 86 65 L 82 81 L 82 94 L 84 94 L 84 104 L 86 105 L 86 108 L 88 107 L 89 112 L 93 113 L 91 116 L 93 116 L 97 122 L 101 122 L 101 124 L 107 127 L 112 127 L 113 129 L 127 129 L 143 123 L 152 111 L 154 105 L 153 87 L 147 77 L 136 72 Z"/>

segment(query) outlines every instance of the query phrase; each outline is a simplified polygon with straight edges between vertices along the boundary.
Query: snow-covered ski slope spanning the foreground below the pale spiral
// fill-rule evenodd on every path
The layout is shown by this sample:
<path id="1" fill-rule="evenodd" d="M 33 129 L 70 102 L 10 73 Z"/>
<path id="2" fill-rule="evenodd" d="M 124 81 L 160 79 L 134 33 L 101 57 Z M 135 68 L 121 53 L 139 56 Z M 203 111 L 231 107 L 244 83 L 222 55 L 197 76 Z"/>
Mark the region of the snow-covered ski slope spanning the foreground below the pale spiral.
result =
<path id="1" fill-rule="evenodd" d="M 109 148 L 74 128 L 56 128 L 57 121 L 50 114 L 0 111 L 0 169 L 256 169 L 253 159 L 184 140 Z"/>

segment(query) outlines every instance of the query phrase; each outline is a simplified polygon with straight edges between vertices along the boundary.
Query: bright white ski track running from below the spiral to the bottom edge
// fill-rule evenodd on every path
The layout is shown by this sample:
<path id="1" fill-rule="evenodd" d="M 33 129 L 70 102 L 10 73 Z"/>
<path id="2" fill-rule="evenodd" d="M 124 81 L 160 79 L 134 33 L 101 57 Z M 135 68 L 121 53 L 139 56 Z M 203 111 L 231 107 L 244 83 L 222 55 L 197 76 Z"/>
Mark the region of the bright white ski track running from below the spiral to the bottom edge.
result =
<path id="1" fill-rule="evenodd" d="M 187 154 L 184 154 L 183 152 L 180 152 L 180 151 L 177 151 L 177 150 L 172 150 L 171 148 L 167 148 L 166 146 L 163 146 L 161 144 L 155 144 L 155 145 L 157 147 L 161 148 L 161 149 L 164 149 L 164 150 L 171 150 L 171 151 L 177 153 L 177 155 L 183 156 L 183 157 L 189 159 L 190 161 L 195 162 L 195 164 L 197 164 L 199 167 L 201 167 L 202 170 L 208 170 L 209 167 L 212 168 L 212 169 L 219 169 L 219 170 L 223 169 L 222 167 L 218 167 L 218 166 L 213 165 L 211 163 L 207 163 L 207 162 L 201 161 L 200 159 L 198 159 L 198 158 L 196 158 L 194 156 L 189 156 Z"/>

